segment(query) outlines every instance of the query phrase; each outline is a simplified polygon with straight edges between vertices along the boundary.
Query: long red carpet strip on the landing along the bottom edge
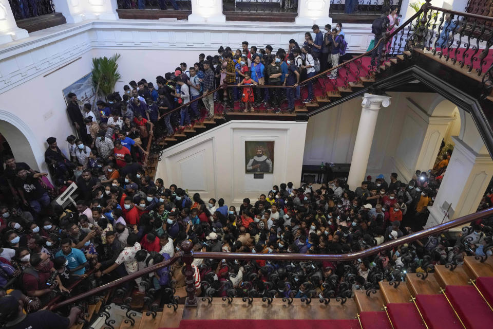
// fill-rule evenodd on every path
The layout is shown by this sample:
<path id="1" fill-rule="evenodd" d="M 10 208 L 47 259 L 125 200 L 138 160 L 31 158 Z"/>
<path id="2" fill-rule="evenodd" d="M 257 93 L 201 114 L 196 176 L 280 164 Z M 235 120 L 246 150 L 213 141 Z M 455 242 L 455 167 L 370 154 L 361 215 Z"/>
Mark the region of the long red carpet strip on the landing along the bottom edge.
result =
<path id="1" fill-rule="evenodd" d="M 360 329 L 358 320 L 181 320 L 180 322 L 180 329 L 221 329 L 221 328 Z"/>

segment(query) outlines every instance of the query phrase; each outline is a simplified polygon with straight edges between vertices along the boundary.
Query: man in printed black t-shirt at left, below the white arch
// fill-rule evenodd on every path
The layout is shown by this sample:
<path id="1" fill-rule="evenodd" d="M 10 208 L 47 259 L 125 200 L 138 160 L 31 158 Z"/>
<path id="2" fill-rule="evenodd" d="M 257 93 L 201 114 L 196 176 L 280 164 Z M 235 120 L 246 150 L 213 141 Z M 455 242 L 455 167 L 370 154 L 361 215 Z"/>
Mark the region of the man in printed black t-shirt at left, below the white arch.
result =
<path id="1" fill-rule="evenodd" d="M 47 173 L 33 174 L 26 169 L 17 168 L 14 186 L 19 192 L 23 204 L 31 206 L 36 213 L 41 212 L 44 207 L 50 204 L 50 197 L 38 179 L 47 175 Z"/>

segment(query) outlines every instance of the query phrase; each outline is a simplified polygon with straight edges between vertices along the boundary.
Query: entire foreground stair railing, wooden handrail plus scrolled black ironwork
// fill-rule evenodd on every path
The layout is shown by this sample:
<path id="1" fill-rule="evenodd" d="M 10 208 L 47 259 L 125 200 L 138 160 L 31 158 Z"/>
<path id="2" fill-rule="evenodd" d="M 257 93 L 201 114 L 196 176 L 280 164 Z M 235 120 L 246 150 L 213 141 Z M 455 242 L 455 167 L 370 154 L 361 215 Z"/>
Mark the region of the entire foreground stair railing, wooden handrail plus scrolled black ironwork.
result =
<path id="1" fill-rule="evenodd" d="M 173 258 L 52 305 L 51 309 L 73 303 L 85 307 L 88 298 L 92 298 L 93 303 L 106 295 L 99 315 L 106 318 L 106 325 L 112 328 L 111 324 L 114 324 L 109 320 L 105 306 L 109 302 L 120 304 L 126 310 L 125 322 L 133 325 L 136 312 L 130 306 L 131 293 L 124 284 L 141 278 L 140 286 L 146 292 L 144 303 L 148 316 L 156 316 L 159 304 L 167 304 L 167 307 L 176 310 L 179 303 L 175 296 L 177 282 L 170 280 L 161 287 L 164 299 L 159 301 L 155 299 L 156 290 L 148 274 L 164 267 L 169 268 L 179 259 L 185 264 L 181 272 L 186 278 L 186 306 L 195 306 L 198 298 L 208 303 L 213 298 L 221 298 L 228 303 L 232 303 L 233 298 L 241 298 L 251 304 L 255 298 L 261 298 L 263 302 L 271 304 L 274 298 L 279 298 L 291 304 L 295 298 L 299 298 L 306 304 L 310 304 L 313 299 L 325 304 L 334 300 L 344 304 L 352 296 L 355 285 L 370 295 L 378 289 L 378 282 L 382 280 L 390 281 L 391 285 L 397 287 L 406 280 L 406 273 L 420 273 L 419 277 L 424 280 L 433 272 L 434 265 L 445 264 L 454 270 L 462 265 L 464 255 L 476 255 L 477 260 L 485 262 L 493 250 L 491 215 L 493 208 L 381 245 L 362 233 L 354 232 L 351 244 L 344 240 L 344 235 L 340 236 L 343 244 L 350 246 L 350 249 L 349 252 L 339 254 L 194 252 L 192 242 L 186 240 L 180 245 L 182 250 Z M 482 221 L 482 226 L 467 226 L 478 220 Z M 466 226 L 457 237 L 444 237 L 444 232 L 463 225 Z M 478 233 L 479 229 L 481 231 Z M 194 259 L 203 259 L 197 267 L 202 291 L 200 296 L 197 296 L 195 288 Z M 362 275 L 366 275 L 367 279 L 362 281 Z M 321 293 L 316 292 L 320 290 Z"/>

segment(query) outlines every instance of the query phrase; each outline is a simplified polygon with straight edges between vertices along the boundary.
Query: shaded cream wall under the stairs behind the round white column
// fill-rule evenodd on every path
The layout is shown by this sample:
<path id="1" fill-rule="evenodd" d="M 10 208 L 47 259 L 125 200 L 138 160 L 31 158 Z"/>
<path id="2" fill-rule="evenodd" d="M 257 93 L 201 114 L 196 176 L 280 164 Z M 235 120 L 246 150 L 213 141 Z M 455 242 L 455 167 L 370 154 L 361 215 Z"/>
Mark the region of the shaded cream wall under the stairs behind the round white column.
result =
<path id="1" fill-rule="evenodd" d="M 366 174 L 373 179 L 384 174 L 389 180 L 390 173 L 396 172 L 399 179 L 405 181 L 412 177 L 416 169 L 430 125 L 429 117 L 433 115 L 443 118 L 447 113 L 451 116 L 456 106 L 443 101 L 443 98 L 434 93 L 388 94 L 392 97 L 391 105 L 382 107 L 378 113 Z M 358 97 L 310 117 L 304 165 L 320 165 L 322 161 L 351 162 L 361 101 L 362 98 Z M 435 107 L 437 111 L 434 111 Z M 460 127 L 460 120 L 458 121 L 453 127 L 454 132 Z M 441 142 L 441 138 L 438 142 Z M 428 157 L 431 160 L 436 155 Z"/>

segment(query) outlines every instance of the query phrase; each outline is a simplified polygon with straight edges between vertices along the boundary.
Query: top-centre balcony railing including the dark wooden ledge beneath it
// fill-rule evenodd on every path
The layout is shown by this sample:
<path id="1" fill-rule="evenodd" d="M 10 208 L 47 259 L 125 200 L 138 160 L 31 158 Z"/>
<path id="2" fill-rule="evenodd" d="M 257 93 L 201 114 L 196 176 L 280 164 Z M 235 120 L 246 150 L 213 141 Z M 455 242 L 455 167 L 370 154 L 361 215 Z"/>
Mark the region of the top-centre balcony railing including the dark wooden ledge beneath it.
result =
<path id="1" fill-rule="evenodd" d="M 223 0 L 227 21 L 294 22 L 298 0 Z"/>

